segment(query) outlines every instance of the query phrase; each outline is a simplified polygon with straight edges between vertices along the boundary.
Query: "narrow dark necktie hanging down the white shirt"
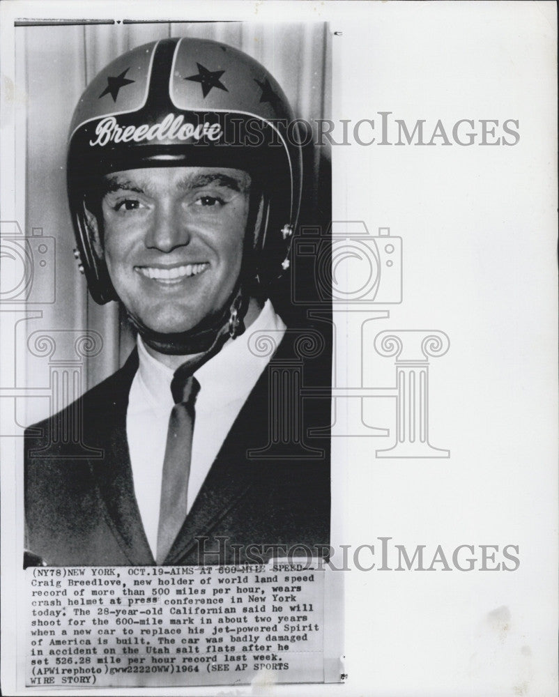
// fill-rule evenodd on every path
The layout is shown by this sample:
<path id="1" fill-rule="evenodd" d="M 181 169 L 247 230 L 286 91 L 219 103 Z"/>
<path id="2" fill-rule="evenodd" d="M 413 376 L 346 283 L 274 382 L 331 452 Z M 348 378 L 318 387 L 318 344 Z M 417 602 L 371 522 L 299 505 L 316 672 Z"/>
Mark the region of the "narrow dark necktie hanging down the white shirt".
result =
<path id="1" fill-rule="evenodd" d="M 191 365 L 181 365 L 171 381 L 175 406 L 169 417 L 163 461 L 158 550 L 155 559 L 158 564 L 164 562 L 186 518 L 194 432 L 194 402 L 200 390 L 199 382 L 192 376 L 193 369 Z"/>

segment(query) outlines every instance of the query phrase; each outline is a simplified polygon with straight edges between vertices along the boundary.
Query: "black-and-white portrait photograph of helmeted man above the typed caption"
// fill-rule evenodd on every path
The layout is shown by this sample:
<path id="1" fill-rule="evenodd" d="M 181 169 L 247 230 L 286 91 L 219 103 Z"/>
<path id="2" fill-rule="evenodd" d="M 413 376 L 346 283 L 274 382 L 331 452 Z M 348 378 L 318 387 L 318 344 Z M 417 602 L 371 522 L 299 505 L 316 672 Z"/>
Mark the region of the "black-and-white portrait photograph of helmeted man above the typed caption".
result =
<path id="1" fill-rule="evenodd" d="M 158 38 L 146 43 L 148 31 Z M 58 321 L 29 348 L 56 360 L 70 339 L 72 358 L 84 359 L 79 385 L 93 385 L 26 431 L 27 563 L 262 564 L 296 545 L 322 556 L 329 327 L 325 316 L 305 333 L 303 306 L 290 312 L 292 292 L 310 295 L 313 279 L 293 289 L 281 277 L 298 223 L 328 227 L 318 208 L 319 192 L 329 205 L 328 162 L 308 147 L 303 158 L 288 98 L 240 47 L 292 73 L 294 103 L 323 109 L 324 91 L 300 95 L 300 82 L 326 72 L 326 25 L 84 24 L 20 35 L 28 215 L 43 220 L 50 206 L 45 226 L 59 220 Z M 309 56 L 296 68 L 305 40 L 321 63 Z M 266 48 L 288 42 L 291 60 Z M 82 80 L 77 97 L 65 89 Z M 61 115 L 74 103 L 68 126 Z M 45 121 L 59 143 L 45 141 Z M 47 171 L 59 176 L 45 186 Z M 328 310 L 328 298 L 315 304 Z M 107 369 L 117 370 L 95 384 Z M 322 394 L 303 400 L 297 381 L 313 372 Z M 76 376 L 59 371 L 51 404 Z M 320 435 L 309 439 L 313 427 Z"/>

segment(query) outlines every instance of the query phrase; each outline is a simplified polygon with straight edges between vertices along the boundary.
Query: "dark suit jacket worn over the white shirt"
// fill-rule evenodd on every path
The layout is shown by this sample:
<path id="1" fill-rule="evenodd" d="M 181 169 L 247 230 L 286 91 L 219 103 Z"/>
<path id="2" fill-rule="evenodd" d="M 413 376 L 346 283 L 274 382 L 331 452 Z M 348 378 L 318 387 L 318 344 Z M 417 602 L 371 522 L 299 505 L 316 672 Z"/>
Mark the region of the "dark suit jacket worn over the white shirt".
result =
<path id="1" fill-rule="evenodd" d="M 285 556 L 296 544 L 327 554 L 330 399 L 303 399 L 303 411 L 298 407 L 298 389 L 288 385 L 300 365 L 293 362 L 293 339 L 288 332 L 245 402 L 165 565 L 259 563 Z M 134 351 L 114 375 L 26 431 L 26 547 L 48 565 L 155 564 L 135 499 L 126 439 L 128 393 L 137 365 Z M 329 355 L 307 365 L 309 374 L 327 374 L 329 380 Z M 292 419 L 286 439 L 291 443 L 281 443 L 279 433 L 267 447 L 277 424 L 272 374 L 276 386 L 284 381 L 280 389 Z M 69 424 L 79 420 L 82 443 L 75 443 Z M 307 438 L 309 426 L 326 427 L 323 437 Z M 86 451 L 84 445 L 101 452 Z M 247 457 L 247 450 L 259 448 L 263 451 Z M 78 451 L 85 454 L 77 458 Z M 269 545 L 281 547 L 274 552 L 265 549 Z M 308 553 L 305 547 L 292 551 Z"/>

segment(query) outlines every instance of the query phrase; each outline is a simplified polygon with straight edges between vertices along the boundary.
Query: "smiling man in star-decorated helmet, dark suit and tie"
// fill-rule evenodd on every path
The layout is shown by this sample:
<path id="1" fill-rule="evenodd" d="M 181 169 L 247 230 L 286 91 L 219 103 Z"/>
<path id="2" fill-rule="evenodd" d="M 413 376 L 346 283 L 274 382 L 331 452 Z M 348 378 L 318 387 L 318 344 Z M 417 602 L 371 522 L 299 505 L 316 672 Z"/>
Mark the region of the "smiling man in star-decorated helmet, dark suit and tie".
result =
<path id="1" fill-rule="evenodd" d="M 285 382 L 302 335 L 269 299 L 300 204 L 292 120 L 263 66 L 199 39 L 133 49 L 79 100 L 68 146 L 76 254 L 91 296 L 125 308 L 137 348 L 26 432 L 33 559 L 205 565 L 324 553 L 330 402 L 303 408 Z M 271 341 L 273 355 L 251 337 Z M 322 437 L 309 447 L 311 426 Z M 76 434 L 91 458 L 72 457 Z"/>

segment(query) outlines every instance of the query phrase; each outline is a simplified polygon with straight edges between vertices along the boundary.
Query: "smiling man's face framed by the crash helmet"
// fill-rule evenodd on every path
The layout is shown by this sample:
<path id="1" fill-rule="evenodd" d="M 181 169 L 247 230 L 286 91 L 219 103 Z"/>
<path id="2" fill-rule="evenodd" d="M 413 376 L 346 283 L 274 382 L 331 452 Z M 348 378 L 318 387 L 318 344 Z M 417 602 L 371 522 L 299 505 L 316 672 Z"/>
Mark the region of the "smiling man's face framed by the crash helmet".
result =
<path id="1" fill-rule="evenodd" d="M 240 273 L 250 176 L 155 167 L 104 179 L 105 260 L 128 312 L 171 333 L 222 309 Z"/>

